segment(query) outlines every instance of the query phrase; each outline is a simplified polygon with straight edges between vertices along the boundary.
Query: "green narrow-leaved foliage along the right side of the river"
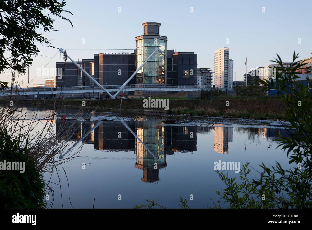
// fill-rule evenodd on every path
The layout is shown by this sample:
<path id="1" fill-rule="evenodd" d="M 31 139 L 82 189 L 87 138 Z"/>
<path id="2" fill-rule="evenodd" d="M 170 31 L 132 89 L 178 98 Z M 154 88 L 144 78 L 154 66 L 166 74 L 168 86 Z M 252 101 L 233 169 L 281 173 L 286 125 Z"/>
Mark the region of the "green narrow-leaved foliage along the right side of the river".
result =
<path id="1" fill-rule="evenodd" d="M 293 63 L 284 67 L 280 56 L 277 55 L 276 79 L 269 81 L 259 80 L 264 84 L 264 90 L 276 90 L 285 101 L 287 109 L 285 118 L 291 125 L 284 127 L 289 137 L 278 134 L 278 147 L 282 147 L 290 159 L 289 164 L 296 166 L 284 170 L 278 162 L 275 166 L 266 167 L 263 163 L 260 178 L 249 182 L 247 176 L 251 170 L 246 163 L 241 171 L 240 180 L 227 178 L 223 172 L 218 172 L 225 184 L 222 192 L 217 195 L 224 199 L 230 208 L 311 208 L 312 207 L 312 95 L 309 92 L 311 80 L 306 77 L 306 82 L 299 82 L 296 70 L 300 64 L 298 54 L 294 52 Z M 290 132 L 296 129 L 296 132 Z M 292 153 L 293 152 L 293 153 Z M 264 196 L 265 195 L 265 199 Z M 214 202 L 215 208 L 220 208 L 220 201 Z"/>

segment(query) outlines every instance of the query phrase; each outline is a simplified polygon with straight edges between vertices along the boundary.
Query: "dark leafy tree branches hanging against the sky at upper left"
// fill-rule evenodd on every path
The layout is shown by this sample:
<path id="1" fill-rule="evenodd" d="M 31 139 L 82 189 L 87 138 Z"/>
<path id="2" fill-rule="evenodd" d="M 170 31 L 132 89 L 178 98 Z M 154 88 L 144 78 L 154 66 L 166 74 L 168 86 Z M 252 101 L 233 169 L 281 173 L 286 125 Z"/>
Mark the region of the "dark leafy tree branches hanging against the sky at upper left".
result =
<path id="1" fill-rule="evenodd" d="M 0 73 L 4 69 L 25 72 L 32 64 L 31 56 L 40 52 L 36 43 L 53 47 L 42 32 L 55 31 L 52 15 L 71 23 L 61 15 L 71 13 L 65 6 L 64 0 L 0 1 Z"/>

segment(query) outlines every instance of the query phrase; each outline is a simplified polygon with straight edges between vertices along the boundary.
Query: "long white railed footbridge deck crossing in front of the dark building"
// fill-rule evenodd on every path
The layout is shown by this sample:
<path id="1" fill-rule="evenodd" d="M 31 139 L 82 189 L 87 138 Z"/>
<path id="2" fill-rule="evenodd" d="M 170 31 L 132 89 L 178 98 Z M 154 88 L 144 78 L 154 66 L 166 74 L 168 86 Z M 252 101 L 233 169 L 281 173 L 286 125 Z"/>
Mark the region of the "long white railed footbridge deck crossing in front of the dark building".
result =
<path id="1" fill-rule="evenodd" d="M 117 92 L 122 85 L 103 85 L 108 92 Z M 196 91 L 201 89 L 212 89 L 208 85 L 170 85 L 170 84 L 129 84 L 125 85 L 120 91 Z M 226 90 L 226 89 L 221 89 Z M 9 95 L 11 89 L 1 90 L 0 96 Z M 12 95 L 50 95 L 50 94 L 76 94 L 76 93 L 98 93 L 104 92 L 99 86 L 73 86 L 73 87 L 43 87 L 43 88 L 25 88 L 12 89 Z"/>

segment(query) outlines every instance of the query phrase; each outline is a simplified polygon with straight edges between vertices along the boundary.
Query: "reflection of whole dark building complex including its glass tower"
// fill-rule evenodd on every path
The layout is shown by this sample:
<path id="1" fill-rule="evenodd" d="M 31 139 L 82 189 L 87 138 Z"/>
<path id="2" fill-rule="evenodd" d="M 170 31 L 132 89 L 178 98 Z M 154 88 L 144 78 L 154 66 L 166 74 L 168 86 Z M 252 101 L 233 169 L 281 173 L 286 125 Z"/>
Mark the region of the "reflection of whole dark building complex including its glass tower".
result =
<path id="1" fill-rule="evenodd" d="M 158 160 L 155 160 L 154 156 L 119 121 L 103 121 L 88 134 L 98 123 L 66 120 L 65 124 L 61 124 L 61 120 L 56 120 L 56 133 L 58 138 L 65 140 L 66 137 L 66 140 L 72 141 L 80 140 L 85 136 L 81 139 L 82 143 L 93 143 L 96 150 L 134 151 L 135 167 L 143 169 L 141 180 L 144 182 L 159 181 L 159 169 L 167 166 L 167 154 L 196 151 L 196 126 L 163 126 L 162 122 L 156 121 L 127 121 L 126 123 L 149 151 L 158 157 Z M 69 129 L 71 125 L 73 127 Z M 206 131 L 206 127 L 201 129 Z M 70 139 L 66 132 L 70 134 Z M 191 132 L 193 137 L 190 137 Z M 118 137 L 119 135 L 121 138 Z M 155 163 L 157 169 L 154 169 Z"/>

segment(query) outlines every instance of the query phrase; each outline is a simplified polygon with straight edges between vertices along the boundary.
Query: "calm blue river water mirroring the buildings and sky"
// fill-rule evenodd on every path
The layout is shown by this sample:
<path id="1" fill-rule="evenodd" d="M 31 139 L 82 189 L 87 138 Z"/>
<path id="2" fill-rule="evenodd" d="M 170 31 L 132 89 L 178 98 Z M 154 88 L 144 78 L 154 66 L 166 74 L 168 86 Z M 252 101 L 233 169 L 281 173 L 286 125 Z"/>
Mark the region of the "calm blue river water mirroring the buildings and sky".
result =
<path id="1" fill-rule="evenodd" d="M 24 111 L 31 119 L 35 109 Z M 66 119 L 76 114 L 76 109 L 62 111 Z M 59 183 L 56 174 L 45 174 L 48 180 L 51 176 L 54 190 L 52 208 L 132 208 L 152 198 L 167 208 L 178 208 L 179 197 L 187 199 L 190 208 L 202 208 L 213 206 L 210 198 L 216 202 L 215 191 L 224 187 L 215 162 L 241 167 L 249 161 L 254 169 L 250 179 L 259 176 L 255 170 L 262 171 L 261 162 L 295 166 L 288 164 L 286 153 L 274 141 L 277 133 L 286 135 L 279 121 L 100 110 L 80 114 L 84 121 L 62 121 L 61 114 L 54 120 L 56 134 L 75 127 L 71 146 L 81 152 L 63 166 L 68 183 L 60 170 L 61 189 L 52 184 Z M 37 119 L 48 115 L 44 107 L 37 111 Z M 176 124 L 162 122 L 171 118 Z M 57 158 L 68 154 L 63 151 Z M 226 173 L 239 178 L 233 168 Z"/>

